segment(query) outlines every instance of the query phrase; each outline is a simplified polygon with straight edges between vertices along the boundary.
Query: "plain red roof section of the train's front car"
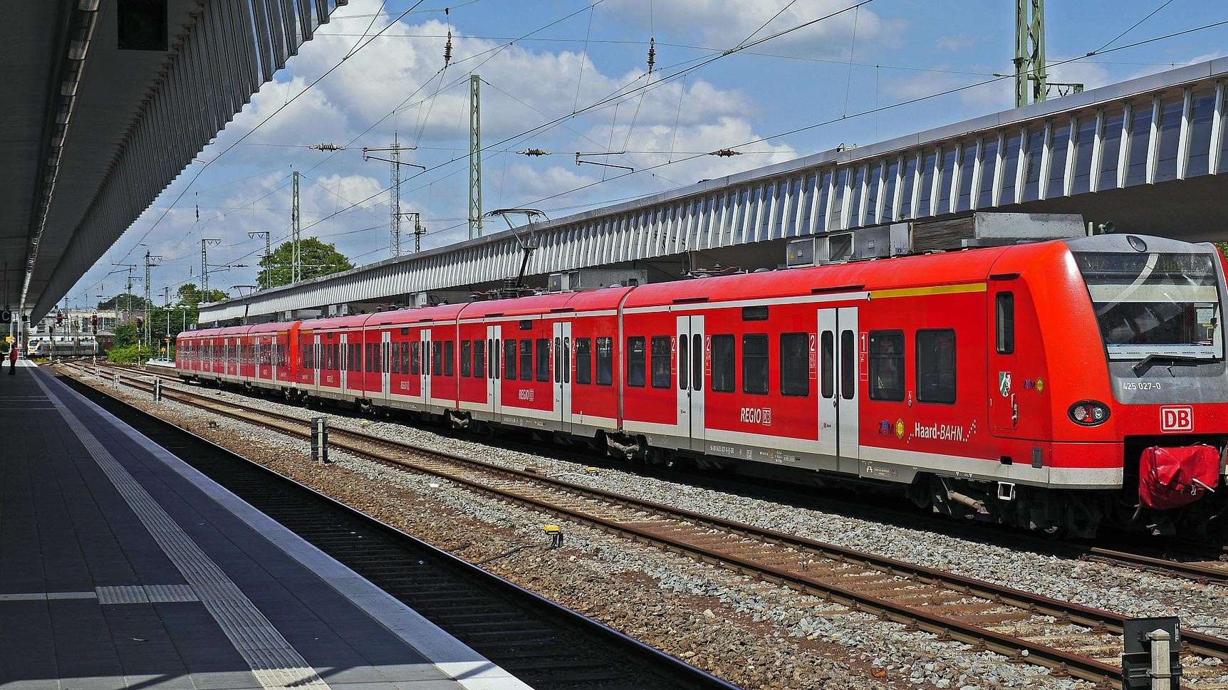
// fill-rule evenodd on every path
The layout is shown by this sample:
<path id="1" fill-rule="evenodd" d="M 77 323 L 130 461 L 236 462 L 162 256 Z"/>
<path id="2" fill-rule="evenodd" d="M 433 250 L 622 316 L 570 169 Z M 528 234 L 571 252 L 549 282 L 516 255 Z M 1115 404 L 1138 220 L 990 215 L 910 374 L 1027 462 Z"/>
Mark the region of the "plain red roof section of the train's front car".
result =
<path id="1" fill-rule="evenodd" d="M 894 259 L 874 259 L 825 266 L 655 282 L 636 287 L 624 307 L 653 307 L 675 302 L 729 302 L 786 297 L 841 287 L 880 290 L 982 281 L 1009 247 L 944 252 Z"/>

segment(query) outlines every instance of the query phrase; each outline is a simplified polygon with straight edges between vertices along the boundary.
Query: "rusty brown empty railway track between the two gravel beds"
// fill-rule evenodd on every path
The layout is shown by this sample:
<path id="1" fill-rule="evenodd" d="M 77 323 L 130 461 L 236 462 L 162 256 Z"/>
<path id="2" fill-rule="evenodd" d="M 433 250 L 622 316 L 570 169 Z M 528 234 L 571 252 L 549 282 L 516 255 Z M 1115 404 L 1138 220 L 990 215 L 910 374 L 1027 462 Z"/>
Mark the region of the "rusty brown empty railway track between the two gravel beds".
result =
<path id="1" fill-rule="evenodd" d="M 152 386 L 131 374 L 129 384 Z M 165 388 L 163 395 L 297 437 L 307 422 L 252 405 Z M 344 428 L 329 442 L 359 457 L 426 473 L 567 521 L 758 576 L 798 592 L 997 652 L 1012 662 L 1120 685 L 1125 616 L 955 573 L 591 489 L 532 468 L 515 469 Z M 1228 640 L 1183 631 L 1183 665 L 1200 688 L 1228 688 Z M 1218 661 L 1216 661 L 1218 659 Z"/>

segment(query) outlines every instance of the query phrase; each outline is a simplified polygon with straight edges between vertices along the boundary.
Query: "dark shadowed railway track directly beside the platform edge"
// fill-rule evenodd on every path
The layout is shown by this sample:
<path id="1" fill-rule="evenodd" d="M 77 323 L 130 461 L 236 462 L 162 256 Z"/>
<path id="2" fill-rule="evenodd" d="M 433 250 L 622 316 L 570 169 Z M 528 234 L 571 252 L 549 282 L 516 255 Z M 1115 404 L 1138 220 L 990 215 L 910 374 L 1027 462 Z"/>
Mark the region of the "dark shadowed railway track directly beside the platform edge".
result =
<path id="1" fill-rule="evenodd" d="M 84 393 L 262 512 L 543 690 L 734 686 L 130 406 Z"/>

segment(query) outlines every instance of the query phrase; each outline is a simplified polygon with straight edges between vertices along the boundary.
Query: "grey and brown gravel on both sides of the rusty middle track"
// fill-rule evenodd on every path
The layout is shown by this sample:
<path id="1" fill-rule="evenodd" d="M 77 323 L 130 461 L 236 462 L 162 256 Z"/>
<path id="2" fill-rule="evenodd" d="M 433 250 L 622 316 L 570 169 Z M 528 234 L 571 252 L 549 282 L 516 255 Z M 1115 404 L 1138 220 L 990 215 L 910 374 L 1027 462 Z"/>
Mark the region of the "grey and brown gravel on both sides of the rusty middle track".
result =
<path id="1" fill-rule="evenodd" d="M 195 386 L 184 388 L 204 390 Z M 154 404 L 130 388 L 120 388 L 120 393 L 142 408 L 156 408 L 161 416 L 201 436 L 744 688 L 975 690 L 1087 685 L 580 525 L 566 525 L 565 549 L 550 551 L 544 548 L 540 525 L 558 522 L 556 518 L 473 495 L 433 478 L 354 458 L 335 448 L 335 465 L 313 465 L 305 462 L 309 457 L 305 442 L 254 425 L 217 419 L 178 403 Z M 211 393 L 220 399 L 258 403 L 301 419 L 322 414 L 248 395 Z M 581 484 L 1002 582 L 1125 615 L 1180 615 L 1184 625 L 1195 627 L 1223 625 L 1228 620 L 1221 603 L 1226 593 L 1222 587 L 1106 564 L 1013 551 L 847 516 L 799 511 L 618 470 L 603 469 L 598 475 L 586 475 L 583 463 L 332 413 L 324 414 L 335 427 L 474 454 L 508 467 L 533 465 L 551 475 L 570 473 L 569 478 Z M 381 490 L 372 491 L 371 480 Z M 1214 629 L 1208 631 L 1217 632 Z"/>

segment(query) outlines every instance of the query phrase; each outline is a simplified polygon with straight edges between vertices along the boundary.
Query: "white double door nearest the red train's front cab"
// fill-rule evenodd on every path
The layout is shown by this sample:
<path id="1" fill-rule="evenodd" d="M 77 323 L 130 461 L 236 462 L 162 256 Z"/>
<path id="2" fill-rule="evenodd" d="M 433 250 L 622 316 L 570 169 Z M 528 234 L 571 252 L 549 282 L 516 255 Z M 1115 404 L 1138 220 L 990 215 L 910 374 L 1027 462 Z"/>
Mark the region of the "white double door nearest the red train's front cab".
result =
<path id="1" fill-rule="evenodd" d="M 819 452 L 861 457 L 857 307 L 819 309 Z"/>

